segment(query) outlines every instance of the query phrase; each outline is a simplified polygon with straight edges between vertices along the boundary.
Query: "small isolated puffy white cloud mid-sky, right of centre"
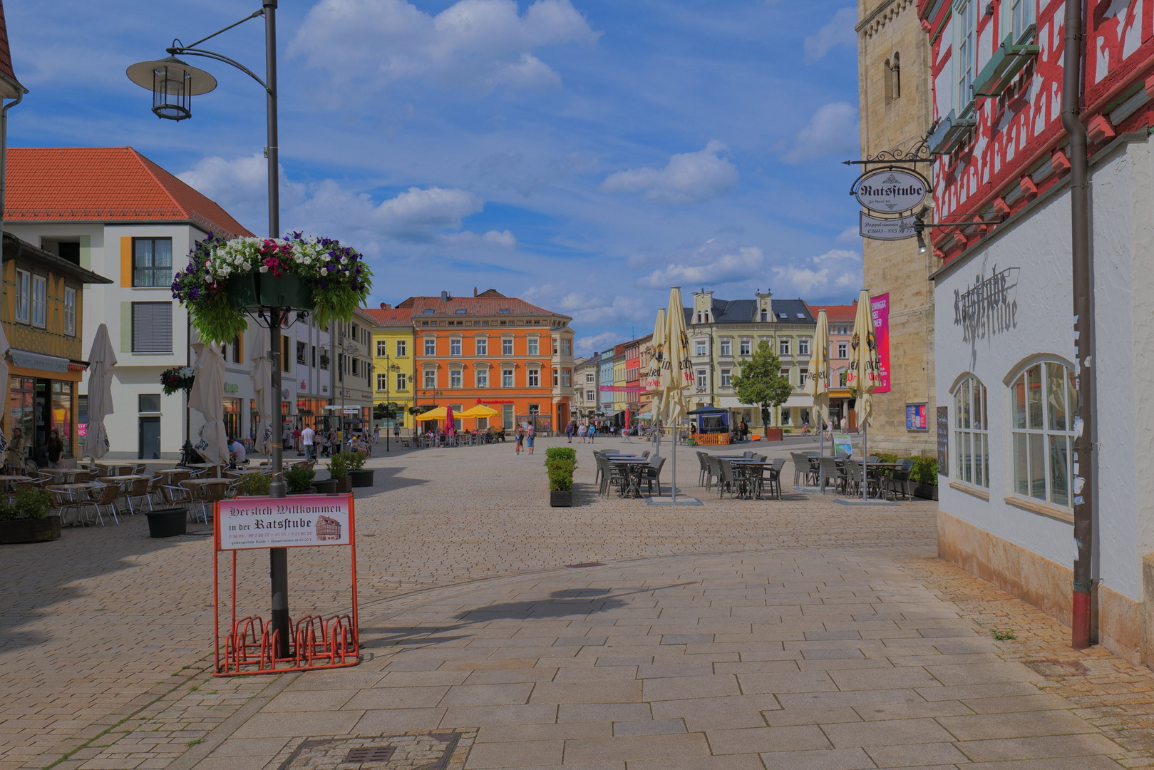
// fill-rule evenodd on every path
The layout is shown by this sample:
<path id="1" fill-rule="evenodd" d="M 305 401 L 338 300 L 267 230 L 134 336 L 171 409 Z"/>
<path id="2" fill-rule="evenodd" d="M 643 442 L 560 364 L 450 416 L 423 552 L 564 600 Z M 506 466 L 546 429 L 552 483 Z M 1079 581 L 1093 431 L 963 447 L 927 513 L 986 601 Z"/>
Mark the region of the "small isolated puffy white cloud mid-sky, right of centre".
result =
<path id="1" fill-rule="evenodd" d="M 726 145 L 711 140 L 704 150 L 669 158 L 664 169 L 630 169 L 609 174 L 605 193 L 638 193 L 646 201 L 691 203 L 720 195 L 737 184 L 737 169 L 721 157 Z"/>

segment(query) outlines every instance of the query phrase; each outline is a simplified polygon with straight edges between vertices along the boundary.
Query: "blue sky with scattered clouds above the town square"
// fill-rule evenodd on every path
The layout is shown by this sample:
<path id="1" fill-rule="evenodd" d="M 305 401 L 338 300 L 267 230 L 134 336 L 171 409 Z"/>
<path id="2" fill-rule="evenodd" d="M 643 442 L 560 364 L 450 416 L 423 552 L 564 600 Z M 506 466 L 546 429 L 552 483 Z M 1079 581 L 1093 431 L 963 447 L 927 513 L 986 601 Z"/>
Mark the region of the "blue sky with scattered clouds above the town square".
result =
<path id="1" fill-rule="evenodd" d="M 282 227 L 365 252 L 374 304 L 495 287 L 572 315 L 584 353 L 649 331 L 674 284 L 861 286 L 846 0 L 280 6 Z M 264 234 L 256 83 L 189 60 L 219 85 L 173 124 L 123 74 L 256 7 L 8 0 L 31 90 L 9 143 L 130 144 Z M 211 44 L 263 74 L 261 20 Z"/>

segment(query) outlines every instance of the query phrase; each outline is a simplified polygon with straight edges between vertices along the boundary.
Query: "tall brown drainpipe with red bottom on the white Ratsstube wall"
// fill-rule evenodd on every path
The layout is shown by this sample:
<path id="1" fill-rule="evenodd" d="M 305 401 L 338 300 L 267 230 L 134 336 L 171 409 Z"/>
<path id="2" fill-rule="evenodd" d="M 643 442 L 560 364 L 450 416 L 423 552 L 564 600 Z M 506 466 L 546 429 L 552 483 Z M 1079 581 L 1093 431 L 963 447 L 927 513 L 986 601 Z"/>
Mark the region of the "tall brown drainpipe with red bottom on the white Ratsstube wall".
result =
<path id="1" fill-rule="evenodd" d="M 1074 365 L 1078 412 L 1074 418 L 1074 561 L 1071 645 L 1091 645 L 1091 554 L 1094 541 L 1094 263 L 1089 249 L 1089 182 L 1086 127 L 1081 122 L 1082 0 L 1066 1 L 1063 54 L 1062 125 L 1070 137 L 1070 234 L 1074 296 Z"/>

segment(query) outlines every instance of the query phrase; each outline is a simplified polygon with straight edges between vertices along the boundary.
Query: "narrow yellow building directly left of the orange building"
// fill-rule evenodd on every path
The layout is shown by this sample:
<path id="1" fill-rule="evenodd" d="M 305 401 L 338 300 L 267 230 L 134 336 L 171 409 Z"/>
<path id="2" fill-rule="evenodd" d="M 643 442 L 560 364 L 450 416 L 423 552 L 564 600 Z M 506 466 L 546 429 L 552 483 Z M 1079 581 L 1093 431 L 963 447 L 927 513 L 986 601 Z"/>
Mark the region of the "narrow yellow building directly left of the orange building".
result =
<path id="1" fill-rule="evenodd" d="M 373 316 L 373 403 L 396 404 L 397 424 L 403 429 L 413 427 L 413 416 L 409 413 L 415 391 L 413 360 L 412 308 L 395 308 L 382 304 L 380 309 L 365 311 Z M 374 410 L 373 426 L 381 431 L 391 429 L 392 420 L 379 419 Z M 411 431 L 406 431 L 411 432 Z"/>

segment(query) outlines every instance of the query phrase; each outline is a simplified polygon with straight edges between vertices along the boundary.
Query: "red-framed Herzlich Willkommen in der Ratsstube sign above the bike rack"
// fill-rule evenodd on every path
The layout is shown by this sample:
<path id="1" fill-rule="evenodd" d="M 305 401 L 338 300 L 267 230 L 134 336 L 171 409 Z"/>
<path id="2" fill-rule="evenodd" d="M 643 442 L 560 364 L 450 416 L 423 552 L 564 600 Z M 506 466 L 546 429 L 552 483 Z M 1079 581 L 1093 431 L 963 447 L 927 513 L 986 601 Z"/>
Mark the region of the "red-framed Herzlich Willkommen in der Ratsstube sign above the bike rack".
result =
<path id="1" fill-rule="evenodd" d="M 217 506 L 220 551 L 353 543 L 352 495 L 237 498 Z"/>

